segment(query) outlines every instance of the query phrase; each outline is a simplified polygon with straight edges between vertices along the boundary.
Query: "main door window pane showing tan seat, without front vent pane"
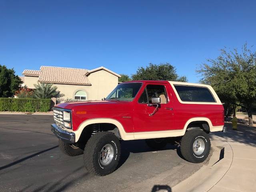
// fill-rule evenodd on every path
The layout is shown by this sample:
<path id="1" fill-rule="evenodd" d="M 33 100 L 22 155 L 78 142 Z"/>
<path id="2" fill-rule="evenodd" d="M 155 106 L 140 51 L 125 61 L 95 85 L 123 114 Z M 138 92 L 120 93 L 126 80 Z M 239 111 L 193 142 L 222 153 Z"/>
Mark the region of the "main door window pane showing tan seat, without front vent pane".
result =
<path id="1" fill-rule="evenodd" d="M 161 98 L 161 104 L 167 103 L 166 92 L 163 85 L 147 85 L 147 92 L 149 103 L 151 103 L 151 99 L 155 97 Z"/>

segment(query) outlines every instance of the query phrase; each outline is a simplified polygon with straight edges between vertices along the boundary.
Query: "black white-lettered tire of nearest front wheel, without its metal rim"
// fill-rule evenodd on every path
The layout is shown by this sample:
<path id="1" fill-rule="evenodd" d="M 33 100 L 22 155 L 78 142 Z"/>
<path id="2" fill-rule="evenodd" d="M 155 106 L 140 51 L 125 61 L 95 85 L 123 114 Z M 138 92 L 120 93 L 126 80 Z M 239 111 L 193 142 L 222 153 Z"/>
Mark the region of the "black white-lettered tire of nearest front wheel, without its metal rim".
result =
<path id="1" fill-rule="evenodd" d="M 111 162 L 103 165 L 100 161 L 101 151 L 106 144 L 113 148 L 114 156 Z M 94 134 L 86 143 L 84 148 L 84 166 L 86 170 L 98 176 L 108 175 L 114 170 L 120 160 L 121 146 L 119 139 L 110 132 L 98 132 Z"/>

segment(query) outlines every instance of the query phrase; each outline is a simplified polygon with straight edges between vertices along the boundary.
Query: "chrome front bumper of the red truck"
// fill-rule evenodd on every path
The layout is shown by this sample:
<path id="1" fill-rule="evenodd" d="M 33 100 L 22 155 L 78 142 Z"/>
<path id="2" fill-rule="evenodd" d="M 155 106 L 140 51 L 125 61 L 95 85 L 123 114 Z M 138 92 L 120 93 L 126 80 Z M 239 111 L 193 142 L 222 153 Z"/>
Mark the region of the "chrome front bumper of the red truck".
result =
<path id="1" fill-rule="evenodd" d="M 55 123 L 51 124 L 51 130 L 56 137 L 66 143 L 75 143 L 76 141 L 76 135 L 73 132 L 68 132 L 56 125 Z"/>

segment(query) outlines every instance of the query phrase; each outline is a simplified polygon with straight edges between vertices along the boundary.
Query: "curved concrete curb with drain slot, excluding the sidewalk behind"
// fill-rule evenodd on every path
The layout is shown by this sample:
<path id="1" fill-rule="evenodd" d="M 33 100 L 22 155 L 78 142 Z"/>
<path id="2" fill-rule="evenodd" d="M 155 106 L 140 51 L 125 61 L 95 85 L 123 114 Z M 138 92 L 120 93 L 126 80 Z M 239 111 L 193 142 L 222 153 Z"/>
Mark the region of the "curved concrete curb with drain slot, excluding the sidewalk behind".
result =
<path id="1" fill-rule="evenodd" d="M 219 142 L 212 142 L 212 156 L 207 165 L 194 173 L 186 180 L 172 187 L 172 192 L 207 192 L 217 184 L 228 172 L 232 160 L 233 152 L 230 144 L 224 142 L 222 146 L 214 146 Z M 221 149 L 224 148 L 224 158 L 220 160 Z"/>

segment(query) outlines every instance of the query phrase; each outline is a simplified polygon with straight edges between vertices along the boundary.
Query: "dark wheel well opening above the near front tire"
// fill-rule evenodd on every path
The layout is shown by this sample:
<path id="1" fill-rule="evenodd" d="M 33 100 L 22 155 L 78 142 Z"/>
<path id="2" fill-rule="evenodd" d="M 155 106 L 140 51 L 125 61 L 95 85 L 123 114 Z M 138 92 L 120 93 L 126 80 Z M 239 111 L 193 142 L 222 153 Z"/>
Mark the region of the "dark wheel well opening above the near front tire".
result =
<path id="1" fill-rule="evenodd" d="M 94 123 L 94 124 L 87 125 L 83 129 L 78 142 L 85 145 L 91 136 L 93 136 L 97 132 L 103 132 L 103 131 L 111 132 L 117 138 L 121 139 L 120 132 L 116 127 L 116 125 L 111 123 Z"/>

